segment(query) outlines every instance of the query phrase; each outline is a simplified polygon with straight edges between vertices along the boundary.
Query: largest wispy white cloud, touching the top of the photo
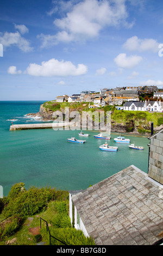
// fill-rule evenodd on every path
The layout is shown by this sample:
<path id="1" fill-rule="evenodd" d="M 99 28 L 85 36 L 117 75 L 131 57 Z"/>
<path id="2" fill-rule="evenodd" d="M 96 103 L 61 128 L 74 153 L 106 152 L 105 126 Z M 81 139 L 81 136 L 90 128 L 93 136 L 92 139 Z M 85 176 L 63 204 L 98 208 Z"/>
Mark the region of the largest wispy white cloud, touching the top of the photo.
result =
<path id="1" fill-rule="evenodd" d="M 133 23 L 127 22 L 125 2 L 125 0 L 84 0 L 72 5 L 71 1 L 68 1 L 65 7 L 65 10 L 68 10 L 66 15 L 54 20 L 54 25 L 60 29 L 60 32 L 51 36 L 41 35 L 42 46 L 45 47 L 48 43 L 55 45 L 59 41 L 84 41 L 95 38 L 108 26 L 132 27 Z M 56 4 L 55 1 L 55 6 L 49 15 L 59 10 Z"/>

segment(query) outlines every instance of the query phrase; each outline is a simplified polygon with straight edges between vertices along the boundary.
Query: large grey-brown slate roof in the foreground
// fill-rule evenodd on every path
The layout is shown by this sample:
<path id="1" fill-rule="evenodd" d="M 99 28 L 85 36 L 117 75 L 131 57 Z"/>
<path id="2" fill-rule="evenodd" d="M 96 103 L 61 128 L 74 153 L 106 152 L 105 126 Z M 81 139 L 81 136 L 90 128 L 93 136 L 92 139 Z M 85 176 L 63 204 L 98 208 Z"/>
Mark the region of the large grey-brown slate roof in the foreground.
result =
<path id="1" fill-rule="evenodd" d="M 96 245 L 153 245 L 163 237 L 163 186 L 135 166 L 72 196 Z"/>

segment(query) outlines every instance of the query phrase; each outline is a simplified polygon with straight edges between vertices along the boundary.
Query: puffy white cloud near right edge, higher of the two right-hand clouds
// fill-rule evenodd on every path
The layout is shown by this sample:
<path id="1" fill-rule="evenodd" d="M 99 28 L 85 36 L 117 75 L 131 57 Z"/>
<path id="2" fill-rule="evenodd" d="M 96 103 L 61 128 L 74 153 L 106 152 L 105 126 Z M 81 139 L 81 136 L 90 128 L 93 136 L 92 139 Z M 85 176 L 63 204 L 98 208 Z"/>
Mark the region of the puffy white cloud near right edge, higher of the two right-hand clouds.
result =
<path id="1" fill-rule="evenodd" d="M 127 39 L 124 43 L 123 48 L 128 51 L 151 51 L 158 52 L 159 51 L 159 43 L 155 39 L 139 39 L 136 35 Z"/>

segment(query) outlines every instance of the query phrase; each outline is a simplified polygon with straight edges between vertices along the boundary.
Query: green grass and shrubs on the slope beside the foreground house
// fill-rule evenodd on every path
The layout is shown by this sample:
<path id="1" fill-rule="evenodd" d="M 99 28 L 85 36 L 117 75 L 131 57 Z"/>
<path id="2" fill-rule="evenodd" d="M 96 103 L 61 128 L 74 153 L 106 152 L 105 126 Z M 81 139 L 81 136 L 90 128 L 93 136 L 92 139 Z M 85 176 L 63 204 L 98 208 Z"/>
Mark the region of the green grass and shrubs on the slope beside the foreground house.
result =
<path id="1" fill-rule="evenodd" d="M 44 221 L 40 229 L 40 218 L 47 221 L 51 234 L 68 245 L 94 245 L 91 238 L 85 237 L 82 231 L 76 230 L 71 225 L 69 212 L 68 191 L 54 190 L 51 188 L 24 188 L 20 182 L 12 186 L 8 197 L 1 200 L 0 220 L 13 215 L 20 210 L 22 205 L 29 204 L 28 211 L 8 217 L 0 222 L 0 245 L 5 245 L 16 237 L 14 245 L 36 245 L 40 238 L 49 245 L 49 233 Z M 37 228 L 39 234 L 31 233 L 31 228 Z M 53 245 L 62 243 L 53 239 Z"/>

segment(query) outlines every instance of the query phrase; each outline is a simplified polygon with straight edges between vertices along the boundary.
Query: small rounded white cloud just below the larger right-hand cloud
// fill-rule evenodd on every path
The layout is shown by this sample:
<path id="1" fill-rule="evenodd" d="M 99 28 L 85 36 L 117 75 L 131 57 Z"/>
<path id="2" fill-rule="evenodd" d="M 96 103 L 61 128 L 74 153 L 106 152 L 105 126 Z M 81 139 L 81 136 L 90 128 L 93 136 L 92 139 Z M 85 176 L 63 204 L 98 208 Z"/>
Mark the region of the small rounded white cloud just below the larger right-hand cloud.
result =
<path id="1" fill-rule="evenodd" d="M 119 68 L 130 69 L 138 65 L 142 60 L 141 56 L 132 55 L 127 57 L 126 53 L 120 53 L 115 59 L 115 63 Z"/>

